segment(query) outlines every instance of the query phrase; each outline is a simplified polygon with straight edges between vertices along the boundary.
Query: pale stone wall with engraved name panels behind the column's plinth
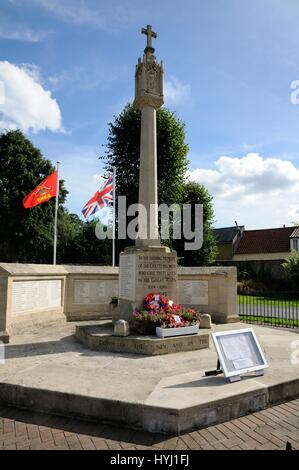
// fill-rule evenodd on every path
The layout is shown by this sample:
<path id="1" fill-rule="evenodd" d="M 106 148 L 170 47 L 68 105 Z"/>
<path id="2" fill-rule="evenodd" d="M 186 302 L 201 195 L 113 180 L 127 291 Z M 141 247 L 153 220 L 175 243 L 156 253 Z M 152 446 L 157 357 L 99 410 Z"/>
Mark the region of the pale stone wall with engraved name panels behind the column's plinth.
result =
<path id="1" fill-rule="evenodd" d="M 210 313 L 217 322 L 238 320 L 235 268 L 179 267 L 176 274 L 174 267 L 172 276 L 171 263 L 169 255 L 156 260 L 141 254 L 137 265 L 130 264 L 127 255 L 120 282 L 118 268 L 109 266 L 0 263 L 0 340 L 28 324 L 111 318 L 120 294 L 133 298 L 135 285 L 144 295 L 169 293 L 176 275 L 180 304 Z"/>

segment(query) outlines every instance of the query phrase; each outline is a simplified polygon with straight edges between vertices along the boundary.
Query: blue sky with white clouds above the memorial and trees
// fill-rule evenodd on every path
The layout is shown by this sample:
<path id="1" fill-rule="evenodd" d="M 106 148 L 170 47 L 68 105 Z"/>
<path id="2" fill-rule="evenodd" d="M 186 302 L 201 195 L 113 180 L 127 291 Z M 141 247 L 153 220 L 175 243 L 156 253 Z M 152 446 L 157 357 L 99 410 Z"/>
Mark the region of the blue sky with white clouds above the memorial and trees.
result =
<path id="1" fill-rule="evenodd" d="M 298 14 L 296 0 L 0 0 L 0 130 L 21 127 L 62 162 L 79 214 L 152 24 L 165 104 L 186 122 L 190 178 L 213 194 L 215 226 L 288 225 L 299 219 Z"/>

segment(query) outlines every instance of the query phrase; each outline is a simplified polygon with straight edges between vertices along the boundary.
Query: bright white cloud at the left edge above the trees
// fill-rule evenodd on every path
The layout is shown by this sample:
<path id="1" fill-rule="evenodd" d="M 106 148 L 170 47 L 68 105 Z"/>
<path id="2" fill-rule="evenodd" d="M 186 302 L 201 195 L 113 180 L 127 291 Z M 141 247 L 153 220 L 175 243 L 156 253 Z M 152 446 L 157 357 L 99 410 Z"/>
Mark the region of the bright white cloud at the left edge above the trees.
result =
<path id="1" fill-rule="evenodd" d="M 0 61 L 0 81 L 5 90 L 0 107 L 0 130 L 63 131 L 59 106 L 51 92 L 41 85 L 35 66 Z"/>

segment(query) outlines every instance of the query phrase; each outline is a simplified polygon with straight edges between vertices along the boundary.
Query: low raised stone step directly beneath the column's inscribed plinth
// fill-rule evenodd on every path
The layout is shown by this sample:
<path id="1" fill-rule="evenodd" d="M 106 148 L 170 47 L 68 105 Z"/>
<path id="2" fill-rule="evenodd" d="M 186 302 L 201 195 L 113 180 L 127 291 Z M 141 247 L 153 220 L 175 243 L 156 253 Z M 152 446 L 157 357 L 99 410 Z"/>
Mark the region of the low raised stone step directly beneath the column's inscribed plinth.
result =
<path id="1" fill-rule="evenodd" d="M 162 354 L 197 351 L 209 347 L 209 330 L 200 330 L 196 335 L 157 338 L 131 334 L 127 337 L 113 336 L 112 323 L 103 325 L 78 325 L 76 338 L 90 349 L 102 352 L 118 352 L 159 356 Z"/>

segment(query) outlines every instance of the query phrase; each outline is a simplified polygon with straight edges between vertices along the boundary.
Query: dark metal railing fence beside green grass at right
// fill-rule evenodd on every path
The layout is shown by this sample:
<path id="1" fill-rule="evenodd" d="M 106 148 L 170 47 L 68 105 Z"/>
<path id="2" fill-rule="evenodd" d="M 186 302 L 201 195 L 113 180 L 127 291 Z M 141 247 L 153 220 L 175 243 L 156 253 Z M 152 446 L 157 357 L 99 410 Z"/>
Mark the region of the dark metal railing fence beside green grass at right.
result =
<path id="1" fill-rule="evenodd" d="M 299 292 L 239 292 L 238 307 L 246 323 L 299 328 Z"/>

